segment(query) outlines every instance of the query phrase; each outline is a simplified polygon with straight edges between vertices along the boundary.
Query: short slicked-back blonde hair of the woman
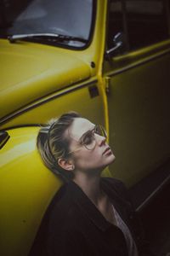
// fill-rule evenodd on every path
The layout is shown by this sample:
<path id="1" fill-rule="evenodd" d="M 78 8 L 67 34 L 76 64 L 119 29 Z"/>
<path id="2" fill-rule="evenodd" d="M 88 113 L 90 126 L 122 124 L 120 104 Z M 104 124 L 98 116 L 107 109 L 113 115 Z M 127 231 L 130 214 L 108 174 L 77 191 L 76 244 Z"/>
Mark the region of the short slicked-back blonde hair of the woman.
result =
<path id="1" fill-rule="evenodd" d="M 73 173 L 60 167 L 58 159 L 68 158 L 70 138 L 65 137 L 65 131 L 74 119 L 80 117 L 76 112 L 64 113 L 58 119 L 52 119 L 42 126 L 37 136 L 37 148 L 45 166 L 65 181 L 71 179 Z"/>

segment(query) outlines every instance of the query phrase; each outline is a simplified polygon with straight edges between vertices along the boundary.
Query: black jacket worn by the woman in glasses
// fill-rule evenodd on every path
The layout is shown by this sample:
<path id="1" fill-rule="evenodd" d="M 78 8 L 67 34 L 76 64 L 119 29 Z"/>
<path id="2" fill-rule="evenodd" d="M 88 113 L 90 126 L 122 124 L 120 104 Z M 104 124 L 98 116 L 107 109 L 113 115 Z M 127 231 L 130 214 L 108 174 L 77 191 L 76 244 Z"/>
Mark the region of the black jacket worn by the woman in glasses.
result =
<path id="1" fill-rule="evenodd" d="M 152 255 L 122 182 L 101 178 L 101 186 L 131 230 L 139 255 Z M 127 256 L 122 230 L 109 223 L 76 183 L 65 183 L 48 207 L 30 256 Z"/>

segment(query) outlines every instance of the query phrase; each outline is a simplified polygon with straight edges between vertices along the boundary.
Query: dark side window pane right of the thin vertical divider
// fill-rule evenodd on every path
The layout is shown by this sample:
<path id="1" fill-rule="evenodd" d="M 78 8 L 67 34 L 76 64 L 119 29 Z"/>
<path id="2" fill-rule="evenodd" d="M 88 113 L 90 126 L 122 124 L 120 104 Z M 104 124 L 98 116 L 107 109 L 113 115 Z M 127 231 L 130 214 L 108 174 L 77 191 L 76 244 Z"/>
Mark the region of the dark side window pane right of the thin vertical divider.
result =
<path id="1" fill-rule="evenodd" d="M 130 49 L 154 44 L 168 37 L 162 0 L 127 0 L 127 30 Z"/>

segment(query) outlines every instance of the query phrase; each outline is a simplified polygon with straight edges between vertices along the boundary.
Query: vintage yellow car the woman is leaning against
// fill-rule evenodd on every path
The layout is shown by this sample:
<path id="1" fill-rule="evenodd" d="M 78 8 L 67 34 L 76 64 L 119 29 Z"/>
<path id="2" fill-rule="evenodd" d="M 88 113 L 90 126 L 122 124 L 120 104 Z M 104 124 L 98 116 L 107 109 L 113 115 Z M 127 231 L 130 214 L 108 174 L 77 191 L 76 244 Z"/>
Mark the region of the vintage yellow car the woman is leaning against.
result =
<path id="1" fill-rule="evenodd" d="M 61 181 L 39 125 L 70 110 L 105 125 L 140 211 L 169 181 L 170 4 L 1 0 L 0 255 L 26 256 Z"/>

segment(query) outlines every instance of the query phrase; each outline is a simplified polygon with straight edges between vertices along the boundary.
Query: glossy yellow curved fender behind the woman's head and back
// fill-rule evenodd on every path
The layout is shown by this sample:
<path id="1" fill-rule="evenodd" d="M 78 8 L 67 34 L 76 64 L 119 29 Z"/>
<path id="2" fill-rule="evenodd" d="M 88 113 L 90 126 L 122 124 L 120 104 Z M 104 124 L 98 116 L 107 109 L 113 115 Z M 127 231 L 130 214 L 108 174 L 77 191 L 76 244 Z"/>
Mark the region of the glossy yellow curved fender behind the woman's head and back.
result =
<path id="1" fill-rule="evenodd" d="M 37 153 L 39 127 L 8 131 L 0 154 L 0 252 L 26 255 L 61 181 Z"/>

